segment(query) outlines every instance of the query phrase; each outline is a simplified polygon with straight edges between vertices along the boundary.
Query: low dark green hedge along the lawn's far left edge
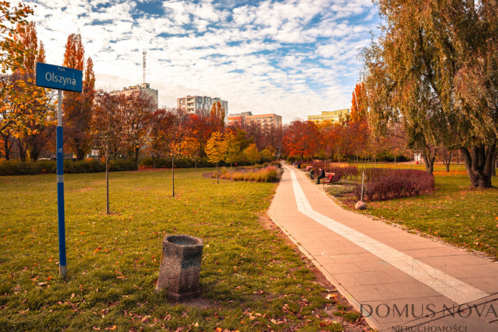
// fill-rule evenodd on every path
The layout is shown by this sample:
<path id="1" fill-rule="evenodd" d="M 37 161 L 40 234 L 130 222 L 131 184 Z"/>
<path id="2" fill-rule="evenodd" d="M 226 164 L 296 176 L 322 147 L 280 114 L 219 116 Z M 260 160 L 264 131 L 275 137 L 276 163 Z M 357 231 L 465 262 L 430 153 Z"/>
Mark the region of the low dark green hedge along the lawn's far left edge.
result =
<path id="1" fill-rule="evenodd" d="M 122 170 L 137 170 L 136 162 L 129 159 L 116 159 L 109 161 L 109 171 L 118 172 Z M 1 175 L 35 175 L 40 173 L 56 173 L 56 162 L 52 160 L 40 160 L 38 162 L 20 162 L 9 160 L 0 162 Z M 64 173 L 98 173 L 105 172 L 105 163 L 98 159 L 64 160 Z"/>

